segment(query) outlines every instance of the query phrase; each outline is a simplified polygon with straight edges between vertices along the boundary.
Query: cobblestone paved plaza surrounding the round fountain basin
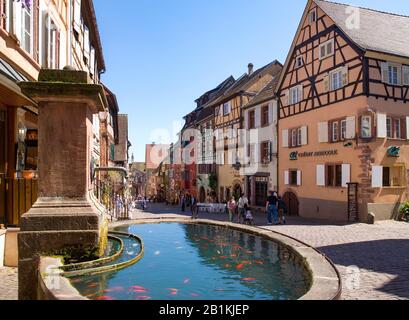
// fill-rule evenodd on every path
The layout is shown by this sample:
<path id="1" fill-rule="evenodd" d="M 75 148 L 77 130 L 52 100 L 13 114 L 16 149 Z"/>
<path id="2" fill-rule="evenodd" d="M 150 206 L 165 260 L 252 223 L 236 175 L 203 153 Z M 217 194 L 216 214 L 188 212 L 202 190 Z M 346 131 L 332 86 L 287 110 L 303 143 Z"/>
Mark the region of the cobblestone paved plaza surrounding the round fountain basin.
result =
<path id="1" fill-rule="evenodd" d="M 135 210 L 132 218 L 189 214 L 177 207 L 150 204 L 146 212 Z M 205 213 L 200 218 L 227 220 L 227 215 Z M 255 218 L 259 227 L 297 238 L 326 254 L 341 273 L 342 299 L 409 299 L 409 224 L 337 224 L 290 217 L 285 226 L 266 226 L 263 214 Z M 0 268 L 0 300 L 5 299 L 17 299 L 16 269 Z"/>

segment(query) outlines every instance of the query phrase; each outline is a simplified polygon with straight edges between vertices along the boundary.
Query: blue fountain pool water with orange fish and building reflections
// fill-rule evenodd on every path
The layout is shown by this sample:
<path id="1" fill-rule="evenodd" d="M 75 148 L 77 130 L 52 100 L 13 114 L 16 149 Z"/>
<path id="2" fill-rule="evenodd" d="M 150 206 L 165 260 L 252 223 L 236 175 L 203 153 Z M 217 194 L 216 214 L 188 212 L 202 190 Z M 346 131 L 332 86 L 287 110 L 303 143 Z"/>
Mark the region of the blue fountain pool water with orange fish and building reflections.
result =
<path id="1" fill-rule="evenodd" d="M 293 254 L 257 236 L 177 223 L 118 231 L 140 236 L 145 255 L 125 270 L 72 279 L 90 299 L 285 300 L 297 299 L 309 288 L 306 271 Z M 131 241 L 123 241 L 125 252 L 138 254 Z M 121 261 L 129 259 L 128 254 Z"/>

